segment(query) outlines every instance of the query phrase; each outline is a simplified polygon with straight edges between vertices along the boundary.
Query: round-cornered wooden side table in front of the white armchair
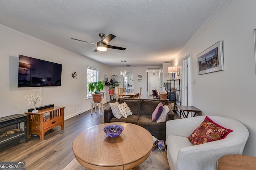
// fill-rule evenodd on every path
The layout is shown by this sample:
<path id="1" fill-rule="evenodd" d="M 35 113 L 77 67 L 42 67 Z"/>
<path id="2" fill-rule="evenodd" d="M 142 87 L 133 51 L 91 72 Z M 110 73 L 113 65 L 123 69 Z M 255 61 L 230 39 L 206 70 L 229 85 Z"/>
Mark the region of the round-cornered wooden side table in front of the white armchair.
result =
<path id="1" fill-rule="evenodd" d="M 216 162 L 217 170 L 255 170 L 256 157 L 242 154 L 228 154 Z"/>

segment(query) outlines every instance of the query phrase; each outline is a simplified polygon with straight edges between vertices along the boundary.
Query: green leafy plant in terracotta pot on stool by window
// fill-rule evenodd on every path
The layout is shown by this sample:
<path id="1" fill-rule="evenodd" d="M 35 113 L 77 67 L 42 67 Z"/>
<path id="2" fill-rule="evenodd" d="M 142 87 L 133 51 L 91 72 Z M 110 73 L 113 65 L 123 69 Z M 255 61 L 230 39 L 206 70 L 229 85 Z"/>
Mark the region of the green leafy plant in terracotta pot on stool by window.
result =
<path id="1" fill-rule="evenodd" d="M 103 90 L 104 82 L 98 81 L 98 82 L 89 83 L 88 88 L 89 88 L 89 92 L 94 92 L 94 94 L 92 94 L 93 102 L 100 102 L 101 96 L 102 96 L 102 94 L 100 93 L 100 90 Z"/>

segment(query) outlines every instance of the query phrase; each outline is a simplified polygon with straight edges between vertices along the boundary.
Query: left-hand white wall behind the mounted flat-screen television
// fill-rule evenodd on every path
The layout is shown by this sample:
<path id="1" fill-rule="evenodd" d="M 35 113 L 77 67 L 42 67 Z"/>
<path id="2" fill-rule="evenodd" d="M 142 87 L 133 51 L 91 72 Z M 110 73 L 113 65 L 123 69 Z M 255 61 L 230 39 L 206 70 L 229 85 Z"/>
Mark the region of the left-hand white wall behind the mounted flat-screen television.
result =
<path id="1" fill-rule="evenodd" d="M 22 114 L 32 108 L 25 96 L 36 90 L 44 98 L 42 105 L 65 106 L 64 119 L 91 108 L 86 100 L 86 65 L 99 68 L 99 80 L 111 76 L 112 67 L 76 55 L 50 43 L 0 25 L 0 117 Z M 59 87 L 17 88 L 19 55 L 62 64 L 62 83 Z M 72 72 L 77 72 L 77 79 Z M 105 89 L 104 89 L 105 90 Z M 108 89 L 106 89 L 108 94 Z M 104 102 L 109 100 L 105 95 Z M 79 104 L 79 107 L 78 107 Z M 36 107 L 40 106 L 40 102 Z"/>

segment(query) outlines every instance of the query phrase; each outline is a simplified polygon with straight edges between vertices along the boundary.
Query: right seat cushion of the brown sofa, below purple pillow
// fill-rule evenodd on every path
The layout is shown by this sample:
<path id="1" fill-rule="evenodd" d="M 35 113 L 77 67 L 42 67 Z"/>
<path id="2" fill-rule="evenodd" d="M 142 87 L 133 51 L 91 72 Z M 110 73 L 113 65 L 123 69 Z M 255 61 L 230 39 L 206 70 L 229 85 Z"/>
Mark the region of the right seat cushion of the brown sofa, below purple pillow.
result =
<path id="1" fill-rule="evenodd" d="M 156 121 L 152 121 L 151 115 L 140 115 L 137 125 L 144 127 L 148 131 L 165 131 L 166 123 L 156 123 Z"/>

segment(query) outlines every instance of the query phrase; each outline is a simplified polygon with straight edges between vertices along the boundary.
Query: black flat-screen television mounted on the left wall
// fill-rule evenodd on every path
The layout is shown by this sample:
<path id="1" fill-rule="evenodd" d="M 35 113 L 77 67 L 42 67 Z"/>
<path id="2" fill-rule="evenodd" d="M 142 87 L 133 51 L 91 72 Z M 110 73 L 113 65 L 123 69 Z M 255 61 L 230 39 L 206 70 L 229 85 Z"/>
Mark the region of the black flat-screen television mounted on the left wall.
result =
<path id="1" fill-rule="evenodd" d="M 20 55 L 18 87 L 61 85 L 62 64 Z"/>

